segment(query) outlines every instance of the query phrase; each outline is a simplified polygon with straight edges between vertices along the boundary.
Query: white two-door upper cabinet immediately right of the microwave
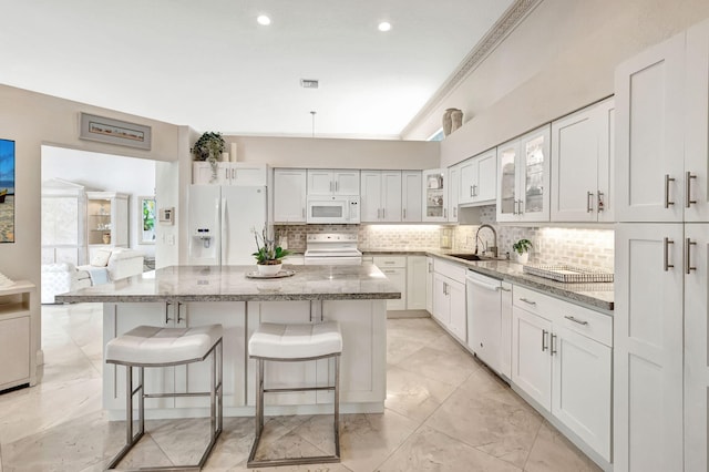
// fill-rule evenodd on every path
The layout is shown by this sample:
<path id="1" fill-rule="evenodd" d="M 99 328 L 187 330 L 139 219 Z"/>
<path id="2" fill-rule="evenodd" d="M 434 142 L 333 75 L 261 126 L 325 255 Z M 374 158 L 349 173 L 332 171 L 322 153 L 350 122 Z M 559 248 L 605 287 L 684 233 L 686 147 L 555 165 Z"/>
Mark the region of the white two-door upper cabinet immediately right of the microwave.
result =
<path id="1" fill-rule="evenodd" d="M 401 171 L 362 171 L 360 195 L 362 222 L 401 222 Z"/>

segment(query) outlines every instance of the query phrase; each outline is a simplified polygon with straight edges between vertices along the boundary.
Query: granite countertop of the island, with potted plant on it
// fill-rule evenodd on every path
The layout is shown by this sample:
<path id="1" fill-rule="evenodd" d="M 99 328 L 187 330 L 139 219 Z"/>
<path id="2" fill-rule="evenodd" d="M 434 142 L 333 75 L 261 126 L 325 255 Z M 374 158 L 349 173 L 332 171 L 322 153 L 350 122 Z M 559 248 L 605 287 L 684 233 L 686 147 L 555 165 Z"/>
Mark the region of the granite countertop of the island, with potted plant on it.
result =
<path id="1" fill-rule="evenodd" d="M 399 299 L 401 291 L 372 264 L 291 266 L 291 277 L 248 278 L 256 266 L 171 266 L 58 295 L 60 302 L 280 301 Z"/>

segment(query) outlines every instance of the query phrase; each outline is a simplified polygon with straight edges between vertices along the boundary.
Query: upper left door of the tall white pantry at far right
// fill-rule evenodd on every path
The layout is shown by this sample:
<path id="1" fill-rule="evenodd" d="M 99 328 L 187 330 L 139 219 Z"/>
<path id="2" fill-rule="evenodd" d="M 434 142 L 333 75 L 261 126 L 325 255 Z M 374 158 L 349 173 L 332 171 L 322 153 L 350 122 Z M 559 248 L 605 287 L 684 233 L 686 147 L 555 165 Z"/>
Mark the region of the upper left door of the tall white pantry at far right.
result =
<path id="1" fill-rule="evenodd" d="M 681 222 L 686 185 L 682 174 L 685 35 L 677 35 L 620 64 L 616 69 L 615 89 L 616 218 L 618 222 Z M 692 106 L 699 104 L 692 101 Z M 706 107 L 705 102 L 705 122 Z M 706 136 L 707 127 L 703 133 Z M 707 154 L 702 157 L 706 171 Z"/>

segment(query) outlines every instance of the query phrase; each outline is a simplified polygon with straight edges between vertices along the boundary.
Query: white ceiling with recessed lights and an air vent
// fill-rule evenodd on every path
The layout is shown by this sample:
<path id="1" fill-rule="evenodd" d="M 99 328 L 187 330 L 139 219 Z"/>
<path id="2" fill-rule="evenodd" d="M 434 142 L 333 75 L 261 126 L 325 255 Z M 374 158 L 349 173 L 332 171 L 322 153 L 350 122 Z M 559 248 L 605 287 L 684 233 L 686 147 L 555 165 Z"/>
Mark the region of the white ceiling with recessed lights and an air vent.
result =
<path id="1" fill-rule="evenodd" d="M 512 3 L 0 0 L 0 83 L 198 131 L 399 137 Z"/>

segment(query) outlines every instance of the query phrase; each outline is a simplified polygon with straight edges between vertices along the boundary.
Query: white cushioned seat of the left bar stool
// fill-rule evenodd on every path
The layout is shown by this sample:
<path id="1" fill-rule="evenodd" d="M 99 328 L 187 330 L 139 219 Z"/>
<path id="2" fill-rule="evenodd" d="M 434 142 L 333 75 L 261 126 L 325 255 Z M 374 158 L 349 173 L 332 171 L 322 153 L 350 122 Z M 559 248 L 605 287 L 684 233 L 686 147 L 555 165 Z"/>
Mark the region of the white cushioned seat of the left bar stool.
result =
<path id="1" fill-rule="evenodd" d="M 222 338 L 222 325 L 194 328 L 138 326 L 106 343 L 106 362 L 133 365 L 184 363 L 204 359 Z"/>

